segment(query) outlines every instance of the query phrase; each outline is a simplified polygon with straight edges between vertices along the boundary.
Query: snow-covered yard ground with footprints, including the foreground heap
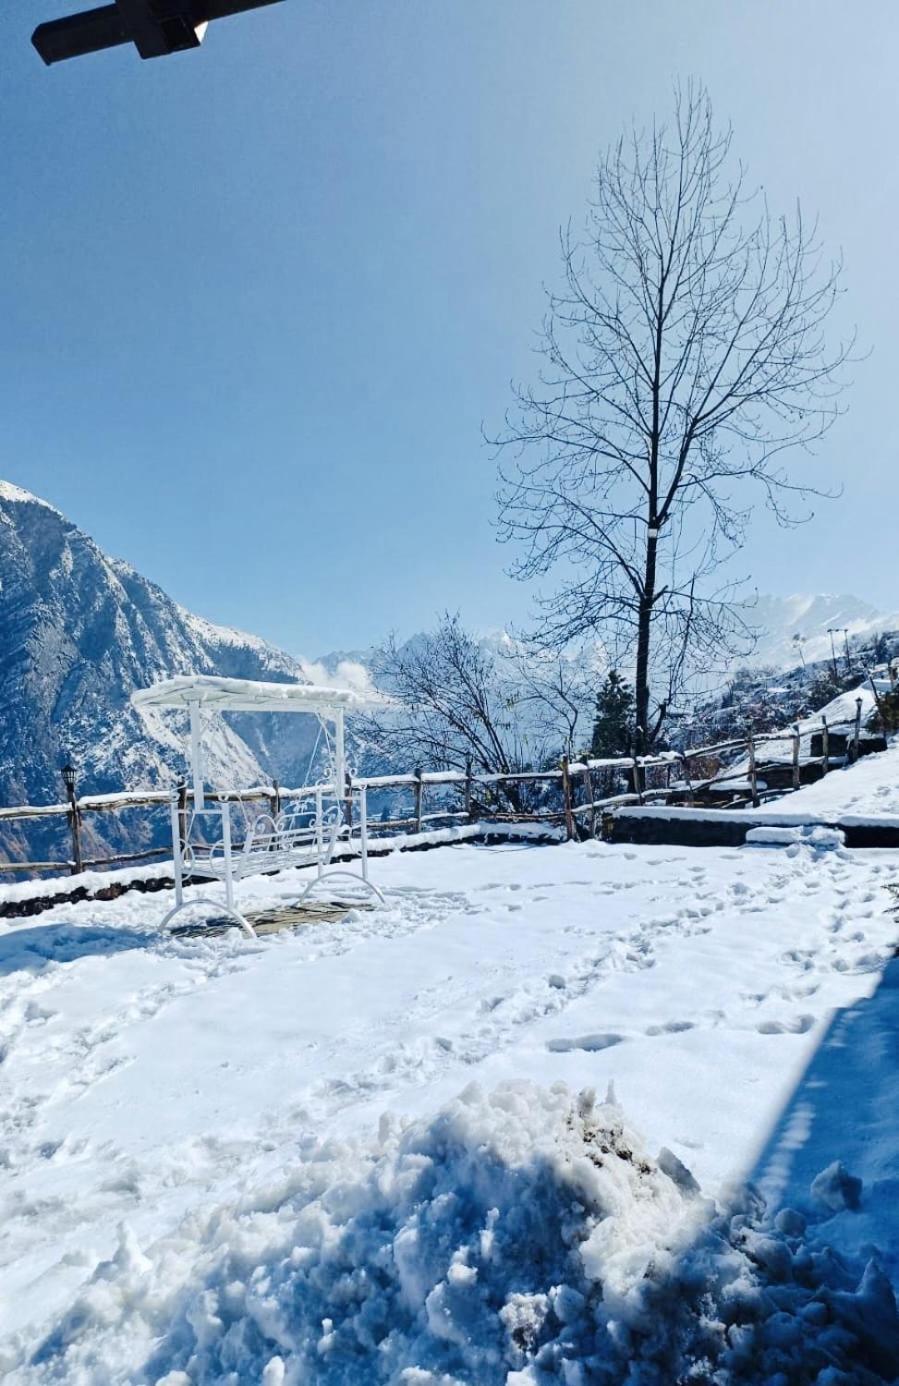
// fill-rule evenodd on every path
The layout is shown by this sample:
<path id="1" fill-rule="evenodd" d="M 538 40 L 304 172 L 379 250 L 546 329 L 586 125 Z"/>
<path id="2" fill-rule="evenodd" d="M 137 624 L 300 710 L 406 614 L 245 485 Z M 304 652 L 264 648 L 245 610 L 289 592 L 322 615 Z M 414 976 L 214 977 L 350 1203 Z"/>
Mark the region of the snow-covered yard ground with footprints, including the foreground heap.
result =
<path id="1" fill-rule="evenodd" d="M 708 1196 L 752 1175 L 772 1207 L 813 1217 L 812 1252 L 790 1218 L 763 1234 L 744 1209 L 719 1227 L 729 1303 L 734 1285 L 749 1293 L 747 1246 L 784 1281 L 790 1246 L 796 1265 L 821 1239 L 862 1264 L 877 1243 L 899 1282 L 884 974 L 899 854 L 463 844 L 373 869 L 386 908 L 259 941 L 161 936 L 168 894 L 3 929 L 4 1379 L 623 1380 L 572 1365 L 587 1351 L 583 1278 L 604 1285 L 604 1360 L 636 1356 L 646 1306 L 622 1307 L 627 1286 L 672 1263 L 705 1207 L 677 1161 Z M 285 873 L 245 883 L 244 898 L 296 894 Z M 506 1087 L 522 1080 L 535 1087 Z M 596 1109 L 553 1087 L 601 1098 L 609 1082 L 614 1102 Z M 403 1132 L 385 1112 L 414 1124 Z M 860 1200 L 839 1170 L 810 1198 L 835 1160 L 862 1179 Z M 515 1218 L 506 1317 L 481 1332 L 500 1277 L 490 1247 Z M 558 1279 L 572 1246 L 578 1285 Z M 546 1293 L 525 1293 L 544 1254 Z M 802 1321 L 867 1306 L 887 1342 L 877 1265 L 844 1313 L 844 1271 L 812 1264 L 791 1272 L 815 1299 Z M 845 1380 L 889 1379 L 864 1375 L 881 1369 L 873 1351 Z M 817 1379 L 754 1369 L 726 1379 Z"/>

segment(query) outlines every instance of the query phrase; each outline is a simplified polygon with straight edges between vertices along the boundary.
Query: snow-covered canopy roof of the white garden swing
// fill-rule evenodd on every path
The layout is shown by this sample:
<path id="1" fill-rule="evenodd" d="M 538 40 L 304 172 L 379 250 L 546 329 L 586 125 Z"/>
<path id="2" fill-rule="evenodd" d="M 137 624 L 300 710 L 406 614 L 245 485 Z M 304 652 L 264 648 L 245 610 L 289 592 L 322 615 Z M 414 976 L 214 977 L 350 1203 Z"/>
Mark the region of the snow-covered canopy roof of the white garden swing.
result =
<path id="1" fill-rule="evenodd" d="M 213 712 L 362 712 L 384 708 L 391 700 L 381 693 L 332 689 L 320 683 L 262 683 L 255 679 L 223 679 L 217 674 L 179 674 L 148 689 L 132 693 L 134 707 L 180 707 L 198 704 Z"/>

